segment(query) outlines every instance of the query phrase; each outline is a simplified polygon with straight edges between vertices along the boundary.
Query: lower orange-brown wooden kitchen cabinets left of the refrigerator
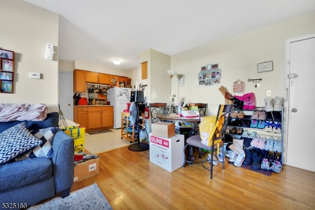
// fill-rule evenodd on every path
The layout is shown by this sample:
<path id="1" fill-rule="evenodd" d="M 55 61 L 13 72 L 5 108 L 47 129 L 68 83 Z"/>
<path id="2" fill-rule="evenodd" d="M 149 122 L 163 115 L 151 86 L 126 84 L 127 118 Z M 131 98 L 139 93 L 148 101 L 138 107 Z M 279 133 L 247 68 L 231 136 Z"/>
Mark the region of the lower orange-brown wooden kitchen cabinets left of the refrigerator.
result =
<path id="1" fill-rule="evenodd" d="M 73 106 L 74 122 L 86 131 L 112 129 L 114 126 L 113 106 Z"/>

